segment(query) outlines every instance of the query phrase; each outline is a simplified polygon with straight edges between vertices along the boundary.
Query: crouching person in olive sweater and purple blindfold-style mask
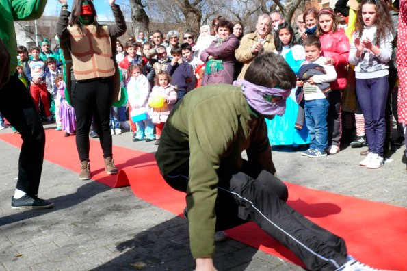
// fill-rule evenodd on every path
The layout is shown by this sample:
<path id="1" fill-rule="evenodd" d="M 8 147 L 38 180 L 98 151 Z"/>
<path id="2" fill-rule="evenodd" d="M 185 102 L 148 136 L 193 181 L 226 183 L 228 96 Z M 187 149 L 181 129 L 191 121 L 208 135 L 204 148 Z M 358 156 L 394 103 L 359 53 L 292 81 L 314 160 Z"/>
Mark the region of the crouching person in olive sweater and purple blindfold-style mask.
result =
<path id="1" fill-rule="evenodd" d="M 163 179 L 186 192 L 196 270 L 215 270 L 215 230 L 253 221 L 289 248 L 307 270 L 373 270 L 347 254 L 345 241 L 287 205 L 264 118 L 285 111 L 296 75 L 283 57 L 256 57 L 235 86 L 187 94 L 163 127 L 155 158 Z M 241 157 L 246 150 L 248 159 Z"/>

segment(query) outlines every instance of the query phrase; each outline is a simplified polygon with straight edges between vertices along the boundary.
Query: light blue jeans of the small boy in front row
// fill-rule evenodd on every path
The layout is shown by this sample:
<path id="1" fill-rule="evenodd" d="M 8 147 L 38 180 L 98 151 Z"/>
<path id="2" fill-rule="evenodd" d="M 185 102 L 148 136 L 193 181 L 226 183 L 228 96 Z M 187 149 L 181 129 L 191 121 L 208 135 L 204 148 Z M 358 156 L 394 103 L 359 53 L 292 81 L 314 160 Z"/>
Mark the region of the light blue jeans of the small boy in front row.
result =
<path id="1" fill-rule="evenodd" d="M 328 147 L 328 125 L 326 117 L 328 116 L 328 99 L 316 99 L 305 101 L 305 122 L 309 130 L 311 149 L 325 151 Z"/>

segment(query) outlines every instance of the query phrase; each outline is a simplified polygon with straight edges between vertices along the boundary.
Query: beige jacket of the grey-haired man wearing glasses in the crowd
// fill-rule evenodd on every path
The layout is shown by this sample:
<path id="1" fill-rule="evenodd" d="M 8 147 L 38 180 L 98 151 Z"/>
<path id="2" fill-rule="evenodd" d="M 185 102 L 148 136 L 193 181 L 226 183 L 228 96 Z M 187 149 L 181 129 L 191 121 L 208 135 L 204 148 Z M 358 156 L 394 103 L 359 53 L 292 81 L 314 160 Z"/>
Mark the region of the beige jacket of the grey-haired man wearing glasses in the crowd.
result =
<path id="1" fill-rule="evenodd" d="M 239 77 L 237 79 L 244 79 L 244 75 L 246 73 L 246 70 L 248 69 L 248 66 L 250 65 L 250 62 L 254 60 L 254 57 L 257 55 L 252 54 L 252 46 L 257 42 L 257 31 L 254 33 L 246 34 L 240 42 L 239 48 L 236 49 L 235 51 L 235 57 L 237 61 L 243 62 L 243 68 L 241 68 L 241 73 L 239 74 Z M 276 48 L 274 47 L 274 40 L 273 40 L 273 35 L 268 34 L 265 36 L 265 42 L 263 44 L 263 52 L 272 52 Z"/>

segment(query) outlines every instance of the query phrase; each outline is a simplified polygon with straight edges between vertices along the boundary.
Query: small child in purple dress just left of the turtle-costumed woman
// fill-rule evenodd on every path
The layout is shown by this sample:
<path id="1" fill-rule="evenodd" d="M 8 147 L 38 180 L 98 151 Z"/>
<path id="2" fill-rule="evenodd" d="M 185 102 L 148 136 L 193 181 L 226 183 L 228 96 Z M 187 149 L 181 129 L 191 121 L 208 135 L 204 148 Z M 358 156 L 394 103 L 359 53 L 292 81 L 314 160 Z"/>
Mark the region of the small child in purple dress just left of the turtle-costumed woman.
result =
<path id="1" fill-rule="evenodd" d="M 55 85 L 58 88 L 57 99 L 60 102 L 60 120 L 62 131 L 65 131 L 64 136 L 75 135 L 77 130 L 77 120 L 75 118 L 75 109 L 69 105 L 65 98 L 64 77 L 58 75 L 55 79 Z"/>

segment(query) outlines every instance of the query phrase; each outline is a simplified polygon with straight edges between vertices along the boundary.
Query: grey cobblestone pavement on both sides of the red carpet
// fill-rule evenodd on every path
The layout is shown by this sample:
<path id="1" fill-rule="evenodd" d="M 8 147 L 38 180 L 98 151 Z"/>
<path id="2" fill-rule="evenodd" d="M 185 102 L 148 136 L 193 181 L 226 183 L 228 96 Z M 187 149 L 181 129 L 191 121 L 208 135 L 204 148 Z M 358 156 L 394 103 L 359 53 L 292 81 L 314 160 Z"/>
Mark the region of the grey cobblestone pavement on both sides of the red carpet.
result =
<path id="1" fill-rule="evenodd" d="M 156 149 L 154 142 L 132 142 L 128 132 L 113 138 L 118 146 Z M 393 162 L 378 170 L 358 166 L 361 149 L 350 147 L 321 159 L 274 148 L 273 159 L 285 181 L 407 207 L 403 150 L 400 147 L 391 157 Z M 39 196 L 54 201 L 55 207 L 10 209 L 18 153 L 0 140 L 0 270 L 194 269 L 186 220 L 140 200 L 129 187 L 111 189 L 80 181 L 76 172 L 45 161 Z M 214 260 L 218 270 L 302 270 L 234 240 L 216 244 Z"/>

